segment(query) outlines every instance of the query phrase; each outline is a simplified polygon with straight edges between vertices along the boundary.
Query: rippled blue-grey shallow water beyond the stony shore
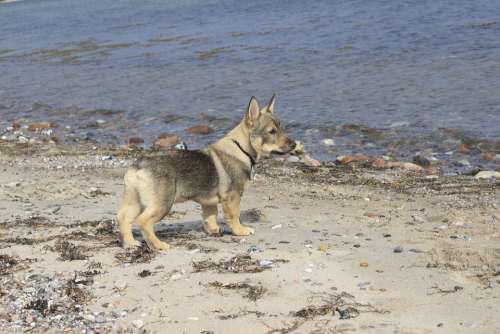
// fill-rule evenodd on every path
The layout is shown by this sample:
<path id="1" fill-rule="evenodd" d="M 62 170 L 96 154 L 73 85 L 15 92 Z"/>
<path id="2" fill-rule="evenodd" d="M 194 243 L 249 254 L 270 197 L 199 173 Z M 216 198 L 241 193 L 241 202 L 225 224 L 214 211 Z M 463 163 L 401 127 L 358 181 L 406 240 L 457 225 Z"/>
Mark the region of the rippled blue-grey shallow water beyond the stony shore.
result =
<path id="1" fill-rule="evenodd" d="M 0 22 L 4 127 L 200 146 L 251 95 L 277 93 L 288 131 L 323 159 L 445 155 L 464 138 L 500 149 L 498 1 L 25 0 L 0 4 Z M 217 131 L 191 138 L 194 124 Z"/>

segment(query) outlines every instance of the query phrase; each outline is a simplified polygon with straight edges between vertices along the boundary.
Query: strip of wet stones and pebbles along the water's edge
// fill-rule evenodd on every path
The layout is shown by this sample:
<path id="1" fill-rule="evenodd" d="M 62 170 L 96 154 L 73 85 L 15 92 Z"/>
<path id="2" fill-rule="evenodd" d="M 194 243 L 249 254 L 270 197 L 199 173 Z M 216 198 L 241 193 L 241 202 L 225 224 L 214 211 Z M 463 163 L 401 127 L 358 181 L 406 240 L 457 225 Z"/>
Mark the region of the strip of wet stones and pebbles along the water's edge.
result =
<path id="1" fill-rule="evenodd" d="M 124 152 L 119 154 L 125 156 L 150 151 L 161 154 L 162 150 L 173 149 L 180 143 L 192 149 L 216 141 L 224 135 L 227 124 L 221 126 L 218 119 L 214 122 L 177 125 L 175 131 L 151 138 L 132 135 L 118 140 L 120 133 L 116 127 L 102 119 L 96 119 L 82 129 L 52 122 L 28 123 L 22 120 L 13 122 L 0 133 L 0 145 L 14 150 L 16 147 L 22 150 L 24 145 L 34 150 L 46 150 L 46 147 L 51 146 L 69 150 L 69 147 L 75 147 L 74 150 L 82 147 L 91 147 L 96 151 L 122 150 Z M 344 158 L 347 157 L 347 163 L 364 161 L 376 168 L 399 168 L 401 166 L 398 164 L 413 163 L 448 176 L 476 175 L 480 171 L 500 172 L 500 140 L 471 137 L 458 129 L 436 129 L 432 135 L 434 137 L 427 134 L 423 138 L 402 138 L 399 132 L 404 131 L 405 127 L 377 129 L 343 124 L 324 129 L 306 129 L 302 134 L 302 144 L 310 155 L 324 163 L 344 164 Z M 90 132 L 82 137 L 79 131 L 85 129 Z M 109 141 L 106 137 L 114 139 Z M 297 162 L 293 157 L 289 161 Z"/>

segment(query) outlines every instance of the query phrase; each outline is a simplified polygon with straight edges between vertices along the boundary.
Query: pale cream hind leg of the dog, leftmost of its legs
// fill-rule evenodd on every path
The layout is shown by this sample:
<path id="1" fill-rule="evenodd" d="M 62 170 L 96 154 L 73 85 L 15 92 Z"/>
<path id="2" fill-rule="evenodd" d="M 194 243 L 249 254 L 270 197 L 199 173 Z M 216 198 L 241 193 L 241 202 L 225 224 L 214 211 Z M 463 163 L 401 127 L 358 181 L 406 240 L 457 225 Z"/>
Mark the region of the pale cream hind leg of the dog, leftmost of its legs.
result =
<path id="1" fill-rule="evenodd" d="M 130 174 L 125 177 L 123 201 L 116 218 L 120 229 L 122 246 L 132 248 L 140 245 L 138 241 L 134 240 L 134 236 L 132 235 L 132 223 L 141 213 L 142 207 L 137 190 L 134 184 L 127 180 L 127 177 L 130 178 Z"/>

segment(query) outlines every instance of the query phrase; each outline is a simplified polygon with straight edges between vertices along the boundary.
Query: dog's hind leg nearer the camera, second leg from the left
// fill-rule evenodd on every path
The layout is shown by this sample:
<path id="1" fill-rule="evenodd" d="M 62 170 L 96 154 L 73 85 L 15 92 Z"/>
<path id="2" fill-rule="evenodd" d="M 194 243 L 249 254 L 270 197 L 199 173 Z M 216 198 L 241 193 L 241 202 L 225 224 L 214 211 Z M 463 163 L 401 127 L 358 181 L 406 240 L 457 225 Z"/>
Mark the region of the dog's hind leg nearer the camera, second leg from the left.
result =
<path id="1" fill-rule="evenodd" d="M 163 219 L 172 208 L 175 201 L 175 181 L 166 180 L 153 183 L 148 180 L 140 189 L 141 202 L 144 211 L 137 217 L 137 224 L 149 248 L 168 250 L 170 246 L 158 239 L 154 225 Z"/>

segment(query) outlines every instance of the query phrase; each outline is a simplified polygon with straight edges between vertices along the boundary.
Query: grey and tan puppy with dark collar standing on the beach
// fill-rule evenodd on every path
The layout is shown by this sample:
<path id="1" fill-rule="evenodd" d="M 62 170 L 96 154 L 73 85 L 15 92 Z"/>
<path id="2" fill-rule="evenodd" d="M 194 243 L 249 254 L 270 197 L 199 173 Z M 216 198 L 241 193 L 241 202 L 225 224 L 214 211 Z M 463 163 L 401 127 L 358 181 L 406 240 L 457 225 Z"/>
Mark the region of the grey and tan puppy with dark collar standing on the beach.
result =
<path id="1" fill-rule="evenodd" d="M 132 224 L 136 222 L 151 249 L 168 250 L 169 245 L 156 236 L 154 225 L 174 203 L 188 200 L 201 204 L 206 233 L 221 233 L 217 224 L 217 206 L 221 204 L 234 235 L 253 234 L 254 229 L 240 223 L 245 184 L 253 178 L 259 159 L 271 153 L 291 152 L 296 145 L 274 114 L 275 100 L 273 95 L 261 109 L 252 97 L 242 121 L 204 149 L 172 150 L 135 161 L 125 173 L 123 201 L 117 215 L 123 247 L 140 245 L 132 235 Z"/>

